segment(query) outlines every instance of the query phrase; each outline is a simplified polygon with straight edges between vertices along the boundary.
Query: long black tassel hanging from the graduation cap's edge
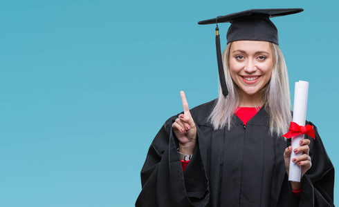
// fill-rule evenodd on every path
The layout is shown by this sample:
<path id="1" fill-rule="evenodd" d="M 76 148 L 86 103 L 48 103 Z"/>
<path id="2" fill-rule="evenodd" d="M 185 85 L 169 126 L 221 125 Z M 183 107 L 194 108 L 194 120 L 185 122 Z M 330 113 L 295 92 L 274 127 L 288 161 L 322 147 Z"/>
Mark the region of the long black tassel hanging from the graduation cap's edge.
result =
<path id="1" fill-rule="evenodd" d="M 225 74 L 223 72 L 223 59 L 221 57 L 221 49 L 220 49 L 220 35 L 219 35 L 219 28 L 218 24 L 217 27 L 215 28 L 215 46 L 217 48 L 217 61 L 218 61 L 218 68 L 219 68 L 219 79 L 220 79 L 220 86 L 221 90 L 223 92 L 223 96 L 226 98 L 228 95 L 228 89 L 226 85 L 226 79 L 225 79 Z"/>

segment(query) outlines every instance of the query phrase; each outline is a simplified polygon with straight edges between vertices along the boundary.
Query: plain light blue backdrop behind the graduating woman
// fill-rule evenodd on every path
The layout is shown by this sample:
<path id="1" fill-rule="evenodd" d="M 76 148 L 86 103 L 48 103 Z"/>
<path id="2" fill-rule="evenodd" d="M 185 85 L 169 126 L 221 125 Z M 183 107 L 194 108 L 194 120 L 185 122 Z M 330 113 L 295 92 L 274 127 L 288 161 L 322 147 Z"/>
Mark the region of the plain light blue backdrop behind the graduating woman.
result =
<path id="1" fill-rule="evenodd" d="M 310 82 L 307 119 L 338 168 L 334 0 L 1 1 L 0 206 L 134 206 L 179 91 L 191 108 L 217 97 L 214 26 L 197 21 L 250 8 L 304 8 L 273 21 L 292 97 Z"/>

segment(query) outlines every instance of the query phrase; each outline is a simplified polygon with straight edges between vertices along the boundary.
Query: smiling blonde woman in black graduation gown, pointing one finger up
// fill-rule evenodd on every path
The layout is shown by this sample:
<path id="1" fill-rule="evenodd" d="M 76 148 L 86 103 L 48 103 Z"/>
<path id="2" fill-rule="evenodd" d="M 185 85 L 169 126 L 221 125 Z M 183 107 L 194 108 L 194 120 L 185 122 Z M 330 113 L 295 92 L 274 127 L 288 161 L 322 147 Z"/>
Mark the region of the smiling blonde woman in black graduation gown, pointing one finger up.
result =
<path id="1" fill-rule="evenodd" d="M 223 52 L 228 97 L 221 87 L 218 99 L 190 110 L 181 92 L 184 112 L 152 142 L 136 206 L 333 206 L 334 169 L 315 126 L 307 122 L 315 139 L 305 136 L 293 152 L 282 137 L 291 121 L 288 76 L 266 11 L 232 17 Z M 267 34 L 248 32 L 253 25 Z M 290 182 L 298 152 L 302 179 Z"/>

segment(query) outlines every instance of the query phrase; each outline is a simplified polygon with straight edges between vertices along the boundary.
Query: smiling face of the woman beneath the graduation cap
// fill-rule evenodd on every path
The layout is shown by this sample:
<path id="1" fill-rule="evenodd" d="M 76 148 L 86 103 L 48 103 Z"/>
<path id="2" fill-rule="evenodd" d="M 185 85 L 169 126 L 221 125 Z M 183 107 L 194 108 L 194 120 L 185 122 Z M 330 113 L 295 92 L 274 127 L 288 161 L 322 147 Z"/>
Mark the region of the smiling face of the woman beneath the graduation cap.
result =
<path id="1" fill-rule="evenodd" d="M 267 41 L 234 41 L 230 46 L 230 75 L 243 97 L 258 95 L 271 79 L 273 54 Z"/>

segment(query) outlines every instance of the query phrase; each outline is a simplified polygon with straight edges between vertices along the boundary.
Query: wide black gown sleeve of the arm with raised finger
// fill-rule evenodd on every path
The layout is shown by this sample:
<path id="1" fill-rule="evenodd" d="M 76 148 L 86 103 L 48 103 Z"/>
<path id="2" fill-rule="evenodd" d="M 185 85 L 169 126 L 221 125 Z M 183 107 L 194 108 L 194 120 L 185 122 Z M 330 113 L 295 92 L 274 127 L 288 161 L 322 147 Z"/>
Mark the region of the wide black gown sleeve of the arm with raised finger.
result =
<path id="1" fill-rule="evenodd" d="M 176 117 L 168 119 L 154 138 L 141 170 L 142 190 L 136 206 L 206 206 L 208 178 L 200 155 L 199 141 L 185 172 L 172 130 Z M 197 128 L 197 139 L 203 136 Z"/>

